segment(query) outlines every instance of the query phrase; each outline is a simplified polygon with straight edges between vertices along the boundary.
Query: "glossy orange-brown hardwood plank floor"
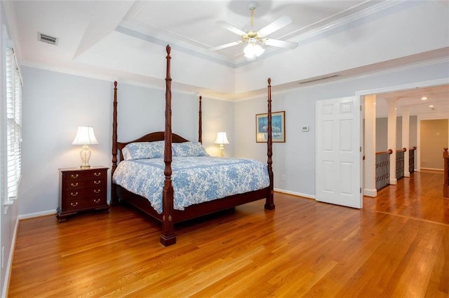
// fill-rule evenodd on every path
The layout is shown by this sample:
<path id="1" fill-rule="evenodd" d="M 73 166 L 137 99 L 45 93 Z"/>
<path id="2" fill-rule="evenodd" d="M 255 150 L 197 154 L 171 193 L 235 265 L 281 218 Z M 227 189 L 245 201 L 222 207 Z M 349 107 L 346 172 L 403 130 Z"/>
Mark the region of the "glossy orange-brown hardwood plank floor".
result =
<path id="1" fill-rule="evenodd" d="M 275 193 L 177 226 L 122 206 L 20 222 L 9 297 L 448 297 L 449 199 L 416 172 L 357 210 Z"/>

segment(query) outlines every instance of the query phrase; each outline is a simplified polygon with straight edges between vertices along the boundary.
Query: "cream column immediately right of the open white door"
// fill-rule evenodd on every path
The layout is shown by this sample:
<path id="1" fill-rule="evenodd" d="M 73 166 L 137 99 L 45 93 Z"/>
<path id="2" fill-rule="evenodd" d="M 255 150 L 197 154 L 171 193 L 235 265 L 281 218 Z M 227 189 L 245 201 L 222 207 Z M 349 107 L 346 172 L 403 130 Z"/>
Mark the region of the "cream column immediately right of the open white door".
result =
<path id="1" fill-rule="evenodd" d="M 365 150 L 363 194 L 376 197 L 376 96 L 365 96 Z"/>

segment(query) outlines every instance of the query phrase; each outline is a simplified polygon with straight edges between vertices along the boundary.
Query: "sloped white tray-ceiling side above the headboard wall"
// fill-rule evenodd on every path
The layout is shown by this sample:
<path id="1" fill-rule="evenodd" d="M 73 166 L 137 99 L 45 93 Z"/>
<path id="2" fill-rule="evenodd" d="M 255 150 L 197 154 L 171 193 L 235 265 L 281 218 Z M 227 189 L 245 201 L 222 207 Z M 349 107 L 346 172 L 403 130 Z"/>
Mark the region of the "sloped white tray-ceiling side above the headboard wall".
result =
<path id="1" fill-rule="evenodd" d="M 121 48 L 116 48 L 117 41 L 123 45 Z M 163 86 L 166 74 L 166 61 L 163 59 L 165 56 L 166 47 L 163 45 L 113 31 L 88 51 L 76 57 L 76 62 L 116 69 L 118 74 L 125 72 L 142 75 L 140 77 L 142 83 L 148 83 L 148 78 L 153 78 L 152 82 L 155 85 L 161 83 Z M 143 59 L 136 64 L 135 57 Z M 201 86 L 218 92 L 234 93 L 234 69 L 229 66 L 176 50 L 176 46 L 171 50 L 171 57 L 171 77 L 174 84 Z"/>

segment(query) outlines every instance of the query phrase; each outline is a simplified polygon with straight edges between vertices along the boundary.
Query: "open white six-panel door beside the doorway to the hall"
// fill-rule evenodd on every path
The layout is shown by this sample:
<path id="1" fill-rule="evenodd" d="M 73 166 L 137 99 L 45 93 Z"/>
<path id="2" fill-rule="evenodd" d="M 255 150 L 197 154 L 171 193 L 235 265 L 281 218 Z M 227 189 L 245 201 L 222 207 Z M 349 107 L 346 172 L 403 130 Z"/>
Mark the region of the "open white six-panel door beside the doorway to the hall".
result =
<path id="1" fill-rule="evenodd" d="M 359 97 L 316 101 L 316 201 L 362 208 Z"/>

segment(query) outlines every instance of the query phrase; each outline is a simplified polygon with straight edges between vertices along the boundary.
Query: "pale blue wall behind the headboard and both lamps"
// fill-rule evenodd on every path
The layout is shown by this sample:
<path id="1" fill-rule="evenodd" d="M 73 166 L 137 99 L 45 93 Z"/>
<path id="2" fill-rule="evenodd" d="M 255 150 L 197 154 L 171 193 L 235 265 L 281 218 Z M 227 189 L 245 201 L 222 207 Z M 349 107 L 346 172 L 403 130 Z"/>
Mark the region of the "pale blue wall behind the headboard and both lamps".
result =
<path id="1" fill-rule="evenodd" d="M 79 125 L 92 125 L 100 142 L 90 146 L 90 164 L 111 166 L 114 85 L 106 80 L 31 67 L 23 67 L 22 76 L 23 174 L 19 214 L 55 213 L 58 168 L 79 166 L 81 162 L 81 148 L 71 145 Z M 131 141 L 148 132 L 163 131 L 165 91 L 120 82 L 117 88 L 119 141 Z M 215 106 L 220 109 L 215 110 Z M 203 98 L 203 144 L 210 155 L 219 154 L 213 144 L 216 129 L 232 132 L 232 106 L 232 102 Z M 173 132 L 197 141 L 196 94 L 173 92 L 172 112 Z M 227 152 L 233 152 L 232 134 L 229 141 Z"/>

